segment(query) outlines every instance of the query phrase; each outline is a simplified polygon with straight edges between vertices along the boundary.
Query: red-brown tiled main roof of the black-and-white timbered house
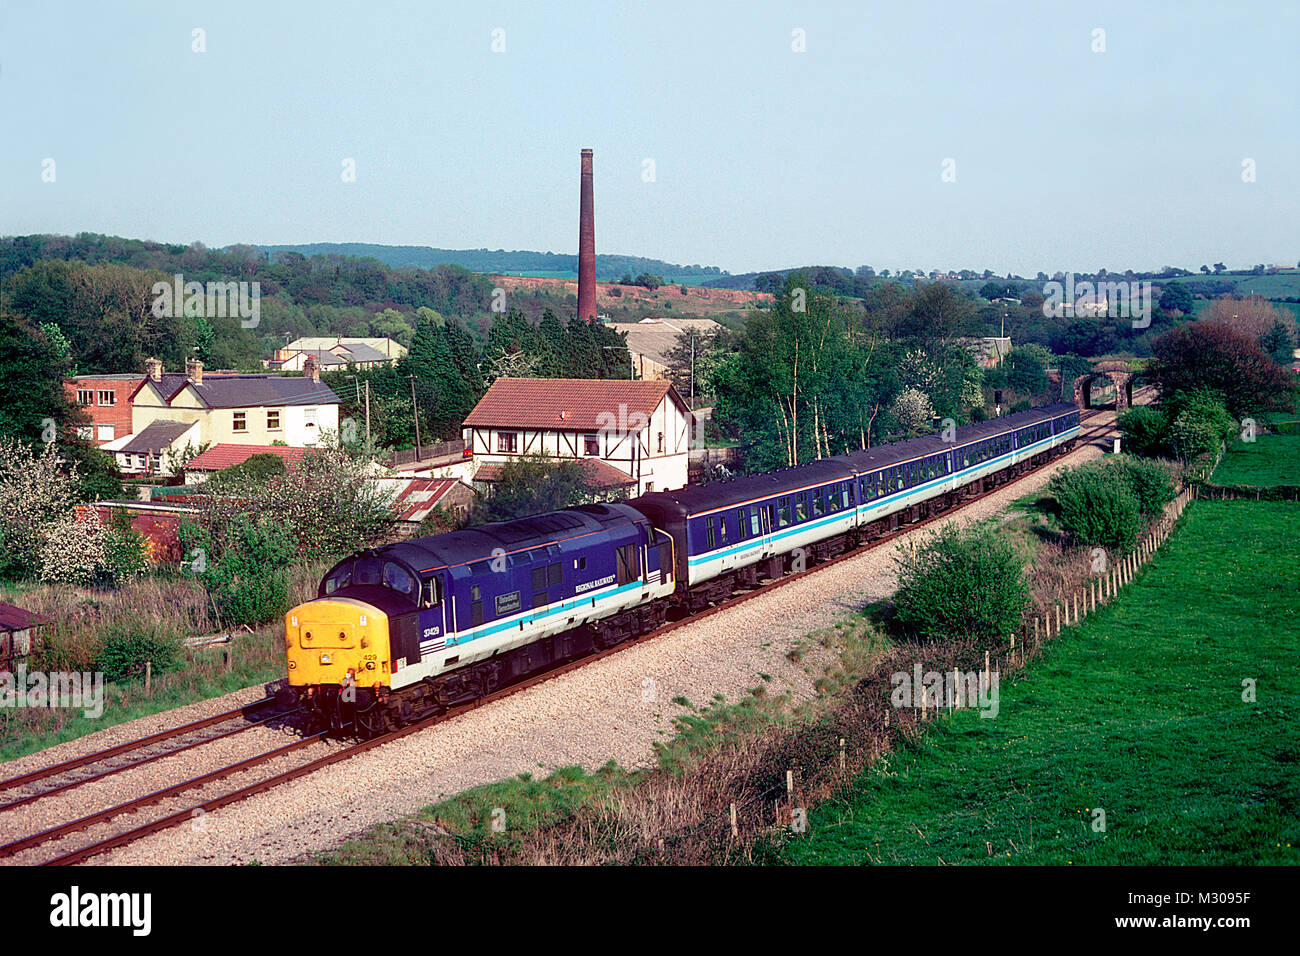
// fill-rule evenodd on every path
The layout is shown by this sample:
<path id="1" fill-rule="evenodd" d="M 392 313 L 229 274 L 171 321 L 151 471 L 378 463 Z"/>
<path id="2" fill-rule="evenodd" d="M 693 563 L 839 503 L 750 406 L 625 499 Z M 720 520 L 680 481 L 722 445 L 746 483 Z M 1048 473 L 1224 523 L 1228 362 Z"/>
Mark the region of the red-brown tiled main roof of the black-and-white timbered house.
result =
<path id="1" fill-rule="evenodd" d="M 686 411 L 672 382 L 660 378 L 498 378 L 465 416 L 465 425 L 624 431 L 633 415 L 649 419 L 664 395 Z"/>

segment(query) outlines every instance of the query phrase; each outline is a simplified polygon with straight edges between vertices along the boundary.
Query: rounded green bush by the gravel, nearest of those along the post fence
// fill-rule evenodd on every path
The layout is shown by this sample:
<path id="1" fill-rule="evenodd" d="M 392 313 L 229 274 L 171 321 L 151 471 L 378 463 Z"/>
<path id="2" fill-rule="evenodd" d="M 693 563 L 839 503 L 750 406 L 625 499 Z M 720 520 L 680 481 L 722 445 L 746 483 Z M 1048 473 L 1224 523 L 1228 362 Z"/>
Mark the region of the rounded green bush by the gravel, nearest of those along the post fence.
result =
<path id="1" fill-rule="evenodd" d="M 991 525 L 945 524 L 894 561 L 894 622 L 920 640 L 1005 641 L 1028 606 L 1023 562 Z"/>

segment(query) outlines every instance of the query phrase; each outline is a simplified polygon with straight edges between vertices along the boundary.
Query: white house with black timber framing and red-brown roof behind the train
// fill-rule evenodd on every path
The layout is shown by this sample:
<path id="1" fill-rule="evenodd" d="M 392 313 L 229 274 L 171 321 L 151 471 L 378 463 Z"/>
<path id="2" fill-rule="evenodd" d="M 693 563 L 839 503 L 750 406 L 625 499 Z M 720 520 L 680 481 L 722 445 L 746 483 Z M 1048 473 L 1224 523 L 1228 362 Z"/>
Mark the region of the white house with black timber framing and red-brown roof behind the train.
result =
<path id="1" fill-rule="evenodd" d="M 588 463 L 601 485 L 632 494 L 686 485 L 694 418 L 672 382 L 651 378 L 498 378 L 465 418 L 476 484 L 512 458 Z"/>

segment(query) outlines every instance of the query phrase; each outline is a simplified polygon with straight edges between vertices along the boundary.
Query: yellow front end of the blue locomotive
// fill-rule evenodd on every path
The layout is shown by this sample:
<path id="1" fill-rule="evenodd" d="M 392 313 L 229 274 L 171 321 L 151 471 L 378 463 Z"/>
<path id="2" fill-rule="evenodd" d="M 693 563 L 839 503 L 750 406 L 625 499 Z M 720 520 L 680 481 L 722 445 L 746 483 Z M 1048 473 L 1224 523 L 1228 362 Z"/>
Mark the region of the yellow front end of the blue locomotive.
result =
<path id="1" fill-rule="evenodd" d="M 389 617 L 347 597 L 322 597 L 285 615 L 289 687 L 321 723 L 334 730 L 387 697 L 391 687 Z"/>

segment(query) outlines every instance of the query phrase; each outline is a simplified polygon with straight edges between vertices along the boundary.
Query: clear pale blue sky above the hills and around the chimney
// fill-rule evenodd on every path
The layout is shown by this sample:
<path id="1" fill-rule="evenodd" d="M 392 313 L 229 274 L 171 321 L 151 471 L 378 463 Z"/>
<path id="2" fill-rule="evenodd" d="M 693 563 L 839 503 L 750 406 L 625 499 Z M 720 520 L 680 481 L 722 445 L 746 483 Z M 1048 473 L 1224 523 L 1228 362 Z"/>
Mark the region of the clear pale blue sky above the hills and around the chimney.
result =
<path id="1" fill-rule="evenodd" d="M 589 146 L 598 252 L 1295 265 L 1297 36 L 1294 3 L 3 0 L 0 234 L 573 254 Z"/>

